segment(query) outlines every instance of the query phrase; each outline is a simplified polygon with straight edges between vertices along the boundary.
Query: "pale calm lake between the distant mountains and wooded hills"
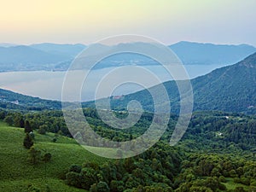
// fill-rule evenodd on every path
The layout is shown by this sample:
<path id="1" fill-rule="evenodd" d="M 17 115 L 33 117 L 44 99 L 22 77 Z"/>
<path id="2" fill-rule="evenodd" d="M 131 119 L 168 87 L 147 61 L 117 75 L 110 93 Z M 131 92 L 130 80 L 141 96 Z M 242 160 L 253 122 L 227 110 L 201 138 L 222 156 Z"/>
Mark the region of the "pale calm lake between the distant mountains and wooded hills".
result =
<path id="1" fill-rule="evenodd" d="M 193 79 L 197 76 L 211 72 L 213 69 L 223 67 L 221 65 L 187 65 L 185 66 L 189 78 Z M 95 99 L 95 92 L 97 85 L 101 82 L 106 82 L 104 78 L 112 79 L 112 82 L 122 82 L 124 77 L 132 77 L 132 81 L 126 82 L 119 86 L 111 87 L 109 83 L 98 89 L 96 98 L 106 96 L 125 95 L 143 88 L 148 88 L 159 82 L 155 81 L 153 77 L 148 75 L 148 72 L 154 73 L 160 79 L 160 82 L 165 82 L 172 79 L 172 76 L 166 72 L 161 66 L 146 66 L 147 73 L 139 73 L 137 75 L 132 70 L 114 73 L 113 67 L 92 70 L 84 84 L 81 87 L 82 101 L 90 101 Z M 73 79 L 67 82 L 68 98 L 66 100 L 72 102 L 77 100 L 73 96 L 74 87 L 78 84 L 78 79 L 83 79 L 84 74 L 81 71 L 73 71 Z M 110 75 L 111 73 L 111 75 Z M 0 73 L 0 87 L 6 90 L 12 90 L 28 96 L 38 96 L 44 99 L 61 101 L 62 85 L 65 79 L 66 72 L 8 72 Z M 143 80 L 143 83 L 140 83 Z M 111 82 L 111 80 L 109 80 Z M 111 88 L 111 89 L 110 89 Z"/>

